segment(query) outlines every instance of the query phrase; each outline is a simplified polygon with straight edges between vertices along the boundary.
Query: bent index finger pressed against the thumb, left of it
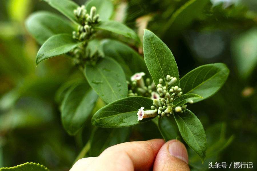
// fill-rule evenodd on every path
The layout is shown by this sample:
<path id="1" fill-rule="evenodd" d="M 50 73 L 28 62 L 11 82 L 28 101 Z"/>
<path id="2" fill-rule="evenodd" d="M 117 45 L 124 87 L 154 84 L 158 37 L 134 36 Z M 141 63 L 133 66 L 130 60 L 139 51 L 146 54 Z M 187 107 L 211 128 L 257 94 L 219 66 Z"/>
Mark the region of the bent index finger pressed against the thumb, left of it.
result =
<path id="1" fill-rule="evenodd" d="M 87 171 L 151 170 L 164 140 L 126 142 L 107 148 L 86 169 Z"/>

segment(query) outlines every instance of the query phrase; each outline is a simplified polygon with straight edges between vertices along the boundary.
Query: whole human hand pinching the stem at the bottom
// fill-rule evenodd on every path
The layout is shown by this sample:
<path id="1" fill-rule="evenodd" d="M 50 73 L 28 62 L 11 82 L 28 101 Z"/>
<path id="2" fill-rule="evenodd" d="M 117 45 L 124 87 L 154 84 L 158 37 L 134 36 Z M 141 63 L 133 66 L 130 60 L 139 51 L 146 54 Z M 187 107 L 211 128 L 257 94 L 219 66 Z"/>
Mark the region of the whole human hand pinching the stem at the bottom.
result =
<path id="1" fill-rule="evenodd" d="M 184 144 L 154 139 L 111 146 L 98 157 L 78 160 L 70 171 L 190 171 Z"/>

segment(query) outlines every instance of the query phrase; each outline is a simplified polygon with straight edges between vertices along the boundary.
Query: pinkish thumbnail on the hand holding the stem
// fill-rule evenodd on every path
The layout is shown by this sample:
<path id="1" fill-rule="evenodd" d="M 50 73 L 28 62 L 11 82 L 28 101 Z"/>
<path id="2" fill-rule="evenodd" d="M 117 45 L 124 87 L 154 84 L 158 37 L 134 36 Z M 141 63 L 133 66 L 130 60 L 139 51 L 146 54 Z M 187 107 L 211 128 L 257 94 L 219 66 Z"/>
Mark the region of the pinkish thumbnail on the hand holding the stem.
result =
<path id="1" fill-rule="evenodd" d="M 184 144 L 178 140 L 169 144 L 170 155 L 184 160 L 188 164 L 187 150 Z"/>

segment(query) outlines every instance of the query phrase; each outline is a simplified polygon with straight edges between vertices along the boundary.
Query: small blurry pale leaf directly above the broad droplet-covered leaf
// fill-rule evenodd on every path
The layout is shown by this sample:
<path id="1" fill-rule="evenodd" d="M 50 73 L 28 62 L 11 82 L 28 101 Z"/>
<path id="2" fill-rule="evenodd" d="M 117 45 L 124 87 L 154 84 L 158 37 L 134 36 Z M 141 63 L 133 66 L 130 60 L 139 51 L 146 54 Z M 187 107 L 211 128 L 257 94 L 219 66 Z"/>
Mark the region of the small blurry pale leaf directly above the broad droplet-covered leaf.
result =
<path id="1" fill-rule="evenodd" d="M 86 56 L 93 57 L 94 55 L 104 57 L 103 45 L 100 40 L 93 39 L 89 41 L 86 47 Z"/>

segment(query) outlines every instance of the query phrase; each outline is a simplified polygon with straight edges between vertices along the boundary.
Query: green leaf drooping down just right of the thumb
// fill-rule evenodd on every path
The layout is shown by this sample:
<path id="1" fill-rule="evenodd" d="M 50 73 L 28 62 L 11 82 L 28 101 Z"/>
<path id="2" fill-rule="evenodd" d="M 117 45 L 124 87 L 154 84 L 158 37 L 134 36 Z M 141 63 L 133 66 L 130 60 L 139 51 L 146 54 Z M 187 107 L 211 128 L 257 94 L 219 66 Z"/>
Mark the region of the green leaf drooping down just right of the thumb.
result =
<path id="1" fill-rule="evenodd" d="M 174 118 L 186 144 L 200 156 L 203 163 L 207 150 L 204 128 L 200 120 L 190 110 L 185 110 L 186 112 L 182 114 L 174 112 Z"/>

